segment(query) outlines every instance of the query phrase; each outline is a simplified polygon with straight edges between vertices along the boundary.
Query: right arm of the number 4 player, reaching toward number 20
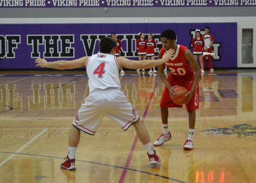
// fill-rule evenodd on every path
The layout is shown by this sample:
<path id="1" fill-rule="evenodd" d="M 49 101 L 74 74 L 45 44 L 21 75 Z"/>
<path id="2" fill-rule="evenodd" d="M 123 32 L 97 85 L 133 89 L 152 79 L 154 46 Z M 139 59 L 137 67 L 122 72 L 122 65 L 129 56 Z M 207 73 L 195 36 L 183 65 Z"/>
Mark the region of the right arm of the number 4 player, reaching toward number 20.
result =
<path id="1" fill-rule="evenodd" d="M 157 65 L 166 63 L 170 60 L 171 57 L 173 57 L 175 54 L 174 49 L 169 49 L 169 51 L 166 52 L 165 55 L 163 55 L 163 58 L 157 59 L 157 60 L 142 60 L 142 61 L 134 61 L 129 60 L 124 57 L 118 57 L 117 61 L 119 64 L 119 67 L 126 67 L 129 69 L 148 69 L 150 67 L 155 67 Z"/>

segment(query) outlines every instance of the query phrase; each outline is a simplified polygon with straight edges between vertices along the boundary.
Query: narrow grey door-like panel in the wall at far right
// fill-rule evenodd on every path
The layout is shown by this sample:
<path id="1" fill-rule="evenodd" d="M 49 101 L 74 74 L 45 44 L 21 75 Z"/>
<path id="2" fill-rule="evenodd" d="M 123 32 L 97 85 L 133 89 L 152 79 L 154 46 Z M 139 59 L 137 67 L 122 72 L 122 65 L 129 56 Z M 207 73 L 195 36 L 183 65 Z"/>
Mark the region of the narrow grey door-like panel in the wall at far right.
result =
<path id="1" fill-rule="evenodd" d="M 242 64 L 253 63 L 253 29 L 242 29 Z"/>

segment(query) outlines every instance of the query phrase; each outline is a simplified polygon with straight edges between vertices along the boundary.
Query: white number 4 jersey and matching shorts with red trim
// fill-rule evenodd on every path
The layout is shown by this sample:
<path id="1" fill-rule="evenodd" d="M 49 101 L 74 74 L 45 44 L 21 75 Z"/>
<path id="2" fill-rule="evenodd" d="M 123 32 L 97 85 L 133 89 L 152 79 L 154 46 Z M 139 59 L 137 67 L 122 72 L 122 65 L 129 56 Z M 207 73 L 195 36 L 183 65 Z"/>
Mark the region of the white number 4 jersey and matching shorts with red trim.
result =
<path id="1" fill-rule="evenodd" d="M 117 122 L 124 131 L 140 119 L 120 90 L 119 65 L 114 55 L 92 55 L 87 60 L 86 73 L 90 94 L 76 114 L 73 126 L 94 135 L 103 117 Z"/>

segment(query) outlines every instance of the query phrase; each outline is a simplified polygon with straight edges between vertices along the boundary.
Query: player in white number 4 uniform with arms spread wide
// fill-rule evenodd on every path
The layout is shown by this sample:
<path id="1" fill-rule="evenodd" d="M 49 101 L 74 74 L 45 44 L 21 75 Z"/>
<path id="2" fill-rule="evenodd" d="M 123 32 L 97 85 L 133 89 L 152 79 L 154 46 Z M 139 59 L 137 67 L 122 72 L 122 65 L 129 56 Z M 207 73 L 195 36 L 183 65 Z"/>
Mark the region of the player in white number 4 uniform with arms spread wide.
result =
<path id="1" fill-rule="evenodd" d="M 90 57 L 85 56 L 72 61 L 47 62 L 45 59 L 37 58 L 36 66 L 49 67 L 59 70 L 73 69 L 86 66 L 90 94 L 85 99 L 73 121 L 69 135 L 68 155 L 61 168 L 75 170 L 75 154 L 79 144 L 80 131 L 94 135 L 103 117 L 108 117 L 117 122 L 126 131 L 131 125 L 134 126 L 140 141 L 148 151 L 151 165 L 160 162 L 156 151 L 148 135 L 148 131 L 141 123 L 136 110 L 127 101 L 124 93 L 120 90 L 119 68 L 147 69 L 163 64 L 174 55 L 170 50 L 163 58 L 158 60 L 134 61 L 127 58 L 116 58 L 116 40 L 113 38 L 102 38 L 99 42 L 100 53 Z"/>

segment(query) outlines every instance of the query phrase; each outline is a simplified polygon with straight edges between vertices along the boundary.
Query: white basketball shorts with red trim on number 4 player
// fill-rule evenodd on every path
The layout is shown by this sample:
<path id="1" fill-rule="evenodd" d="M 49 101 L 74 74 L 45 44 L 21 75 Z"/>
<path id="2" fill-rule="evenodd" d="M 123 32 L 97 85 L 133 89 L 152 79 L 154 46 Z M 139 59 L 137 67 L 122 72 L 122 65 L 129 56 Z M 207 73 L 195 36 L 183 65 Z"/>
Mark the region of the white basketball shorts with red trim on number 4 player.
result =
<path id="1" fill-rule="evenodd" d="M 87 134 L 95 135 L 103 117 L 117 122 L 125 131 L 140 117 L 118 89 L 97 90 L 85 99 L 73 121 L 73 126 Z"/>

